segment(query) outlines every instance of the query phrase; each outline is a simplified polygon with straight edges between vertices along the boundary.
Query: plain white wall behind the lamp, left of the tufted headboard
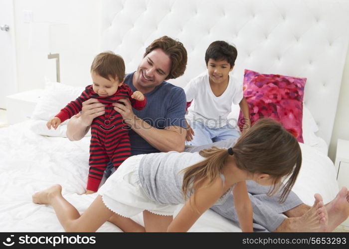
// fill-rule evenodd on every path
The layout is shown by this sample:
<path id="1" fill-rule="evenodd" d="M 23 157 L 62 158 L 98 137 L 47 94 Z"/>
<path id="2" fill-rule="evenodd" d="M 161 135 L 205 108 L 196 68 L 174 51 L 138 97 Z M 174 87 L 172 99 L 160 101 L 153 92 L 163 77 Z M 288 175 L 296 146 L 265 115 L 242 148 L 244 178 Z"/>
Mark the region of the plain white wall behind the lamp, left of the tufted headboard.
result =
<path id="1" fill-rule="evenodd" d="M 90 66 L 99 52 L 99 8 L 99 0 L 14 0 L 19 92 L 44 88 L 45 76 L 56 80 L 55 60 L 47 59 L 50 52 L 60 54 L 62 83 L 91 83 Z M 26 10 L 32 11 L 28 23 Z"/>

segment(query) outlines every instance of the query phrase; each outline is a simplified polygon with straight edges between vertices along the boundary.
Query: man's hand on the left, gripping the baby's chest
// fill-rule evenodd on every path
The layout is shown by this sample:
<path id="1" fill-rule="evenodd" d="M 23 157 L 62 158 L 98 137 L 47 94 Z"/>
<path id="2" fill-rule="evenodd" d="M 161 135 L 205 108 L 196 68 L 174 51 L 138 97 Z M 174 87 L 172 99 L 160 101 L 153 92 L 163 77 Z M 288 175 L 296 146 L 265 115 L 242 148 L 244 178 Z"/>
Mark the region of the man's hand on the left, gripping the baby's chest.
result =
<path id="1" fill-rule="evenodd" d="M 105 113 L 105 106 L 97 99 L 89 99 L 82 103 L 81 115 L 76 116 L 80 118 L 83 125 L 90 126 L 93 119 Z"/>

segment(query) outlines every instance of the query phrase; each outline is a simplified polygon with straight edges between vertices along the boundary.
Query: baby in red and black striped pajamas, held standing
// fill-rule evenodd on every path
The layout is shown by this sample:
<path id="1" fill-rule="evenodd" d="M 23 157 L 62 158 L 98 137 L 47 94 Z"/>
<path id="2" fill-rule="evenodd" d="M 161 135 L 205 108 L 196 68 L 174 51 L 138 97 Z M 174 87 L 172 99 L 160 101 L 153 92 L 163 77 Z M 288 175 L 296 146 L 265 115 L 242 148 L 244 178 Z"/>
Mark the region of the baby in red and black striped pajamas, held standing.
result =
<path id="1" fill-rule="evenodd" d="M 141 92 L 132 92 L 128 85 L 123 84 L 124 76 L 125 63 L 121 56 L 111 51 L 98 54 L 91 65 L 93 84 L 87 86 L 80 97 L 70 102 L 46 124 L 49 129 L 51 126 L 56 129 L 59 124 L 78 114 L 82 110 L 82 103 L 90 98 L 98 99 L 105 105 L 104 114 L 95 118 L 91 125 L 90 169 L 86 194 L 98 190 L 110 160 L 117 169 L 131 155 L 129 126 L 123 123 L 122 116 L 114 110 L 112 103 L 128 98 L 136 110 L 142 110 L 147 100 Z"/>

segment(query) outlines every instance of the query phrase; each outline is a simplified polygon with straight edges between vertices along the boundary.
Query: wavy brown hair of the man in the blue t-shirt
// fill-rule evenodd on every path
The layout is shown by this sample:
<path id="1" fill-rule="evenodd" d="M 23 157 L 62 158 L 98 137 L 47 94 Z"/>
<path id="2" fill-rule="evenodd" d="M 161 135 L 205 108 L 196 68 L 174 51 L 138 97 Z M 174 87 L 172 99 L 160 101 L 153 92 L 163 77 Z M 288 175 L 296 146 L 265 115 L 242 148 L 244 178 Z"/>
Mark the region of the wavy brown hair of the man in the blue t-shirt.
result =
<path id="1" fill-rule="evenodd" d="M 144 56 L 152 52 L 154 49 L 162 49 L 171 59 L 171 70 L 167 79 L 175 79 L 184 74 L 187 54 L 186 49 L 180 41 L 176 41 L 168 36 L 156 39 L 146 48 Z"/>

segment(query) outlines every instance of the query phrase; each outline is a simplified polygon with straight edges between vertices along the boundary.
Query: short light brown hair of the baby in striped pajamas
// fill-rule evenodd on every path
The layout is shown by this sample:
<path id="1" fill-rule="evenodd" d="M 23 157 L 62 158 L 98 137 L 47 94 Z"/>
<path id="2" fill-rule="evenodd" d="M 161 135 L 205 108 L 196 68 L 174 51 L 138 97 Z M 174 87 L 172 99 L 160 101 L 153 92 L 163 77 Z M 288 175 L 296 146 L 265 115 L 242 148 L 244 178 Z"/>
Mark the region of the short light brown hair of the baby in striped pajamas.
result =
<path id="1" fill-rule="evenodd" d="M 117 77 L 119 82 L 122 82 L 125 77 L 125 62 L 120 55 L 105 51 L 96 55 L 91 65 L 91 72 L 107 80 Z"/>

